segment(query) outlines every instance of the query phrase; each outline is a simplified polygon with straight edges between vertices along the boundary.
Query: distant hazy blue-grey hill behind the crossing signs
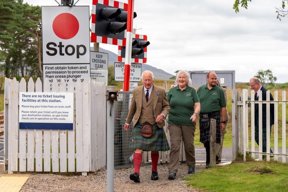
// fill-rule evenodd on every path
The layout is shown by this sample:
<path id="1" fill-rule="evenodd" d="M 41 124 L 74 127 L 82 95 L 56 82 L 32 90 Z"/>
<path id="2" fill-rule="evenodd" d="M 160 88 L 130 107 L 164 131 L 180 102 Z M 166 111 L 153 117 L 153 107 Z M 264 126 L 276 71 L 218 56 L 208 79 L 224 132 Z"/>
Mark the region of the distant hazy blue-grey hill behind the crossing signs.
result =
<path id="1" fill-rule="evenodd" d="M 93 51 L 93 47 L 90 47 L 90 50 Z M 100 48 L 99 51 L 103 53 L 108 53 L 108 61 L 109 61 L 108 65 L 114 66 L 114 62 L 118 62 L 118 55 L 116 55 L 115 53 L 108 51 L 106 49 L 103 49 L 103 48 Z M 169 78 L 174 76 L 170 73 L 163 71 L 162 69 L 158 69 L 156 67 L 152 67 L 151 65 L 142 63 L 142 71 L 145 71 L 145 70 L 152 71 L 155 76 L 155 79 L 171 80 Z"/>

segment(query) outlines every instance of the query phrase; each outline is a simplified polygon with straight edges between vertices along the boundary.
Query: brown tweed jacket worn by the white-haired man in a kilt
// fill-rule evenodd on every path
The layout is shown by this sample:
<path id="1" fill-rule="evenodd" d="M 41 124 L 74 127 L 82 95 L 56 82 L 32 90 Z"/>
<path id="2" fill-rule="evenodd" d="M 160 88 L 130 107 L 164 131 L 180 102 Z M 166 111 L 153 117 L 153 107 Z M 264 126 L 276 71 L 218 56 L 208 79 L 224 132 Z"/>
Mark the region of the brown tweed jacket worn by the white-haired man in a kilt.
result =
<path id="1" fill-rule="evenodd" d="M 157 119 L 157 116 L 163 113 L 165 117 L 167 117 L 169 110 L 170 110 L 170 104 L 166 98 L 166 93 L 164 88 L 156 86 L 153 84 L 153 90 L 154 94 L 150 94 L 150 97 L 153 97 L 153 112 L 154 117 Z M 133 97 L 131 101 L 131 106 L 126 118 L 126 123 L 130 124 L 133 117 L 133 126 L 136 125 L 138 122 L 138 119 L 141 114 L 142 110 L 142 98 L 144 94 L 144 85 L 138 86 L 133 89 Z M 157 123 L 158 127 L 164 127 L 165 121 L 162 121 L 162 123 Z"/>

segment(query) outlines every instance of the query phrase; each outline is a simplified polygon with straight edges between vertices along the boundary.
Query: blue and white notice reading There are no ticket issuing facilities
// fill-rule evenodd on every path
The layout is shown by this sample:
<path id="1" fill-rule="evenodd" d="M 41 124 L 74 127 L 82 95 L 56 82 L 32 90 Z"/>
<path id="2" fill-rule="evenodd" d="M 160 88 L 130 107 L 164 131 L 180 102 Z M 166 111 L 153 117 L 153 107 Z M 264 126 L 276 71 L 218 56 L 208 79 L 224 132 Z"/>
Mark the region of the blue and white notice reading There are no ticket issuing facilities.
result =
<path id="1" fill-rule="evenodd" d="M 19 93 L 19 129 L 73 130 L 73 93 Z"/>

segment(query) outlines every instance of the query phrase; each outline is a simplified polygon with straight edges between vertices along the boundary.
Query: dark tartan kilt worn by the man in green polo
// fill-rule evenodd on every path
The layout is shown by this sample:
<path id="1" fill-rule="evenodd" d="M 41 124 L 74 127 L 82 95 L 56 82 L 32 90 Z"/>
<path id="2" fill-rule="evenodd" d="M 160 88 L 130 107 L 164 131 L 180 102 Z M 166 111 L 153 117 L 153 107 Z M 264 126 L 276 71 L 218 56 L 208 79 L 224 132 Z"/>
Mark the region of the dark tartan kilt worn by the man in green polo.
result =
<path id="1" fill-rule="evenodd" d="M 199 119 L 199 123 L 201 121 L 201 117 Z M 221 143 L 221 135 L 220 135 L 220 115 L 215 116 L 215 117 L 211 117 L 210 119 L 215 119 L 216 120 L 216 143 Z M 210 141 L 210 127 L 208 129 L 202 129 L 201 127 L 199 127 L 200 129 L 200 142 L 201 143 L 205 143 L 207 141 Z"/>

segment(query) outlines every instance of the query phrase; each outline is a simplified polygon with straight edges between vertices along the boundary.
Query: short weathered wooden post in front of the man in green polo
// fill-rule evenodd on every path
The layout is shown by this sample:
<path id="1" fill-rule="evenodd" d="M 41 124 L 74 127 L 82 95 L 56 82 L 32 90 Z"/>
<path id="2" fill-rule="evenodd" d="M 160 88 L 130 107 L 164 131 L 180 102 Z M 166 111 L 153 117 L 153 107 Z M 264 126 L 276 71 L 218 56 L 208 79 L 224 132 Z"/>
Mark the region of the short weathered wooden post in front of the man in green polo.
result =
<path id="1" fill-rule="evenodd" d="M 210 167 L 216 165 L 216 119 L 210 119 Z"/>

